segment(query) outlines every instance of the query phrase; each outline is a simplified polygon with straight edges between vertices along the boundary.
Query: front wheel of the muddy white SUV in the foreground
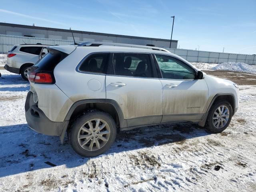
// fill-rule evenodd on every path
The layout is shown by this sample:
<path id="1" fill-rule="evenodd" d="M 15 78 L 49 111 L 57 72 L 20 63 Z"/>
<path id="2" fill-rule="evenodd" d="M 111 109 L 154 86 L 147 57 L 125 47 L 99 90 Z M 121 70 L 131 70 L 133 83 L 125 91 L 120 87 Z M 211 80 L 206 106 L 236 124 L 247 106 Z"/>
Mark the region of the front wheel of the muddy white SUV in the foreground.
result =
<path id="1" fill-rule="evenodd" d="M 216 102 L 209 111 L 206 120 L 206 128 L 210 132 L 220 133 L 228 127 L 232 116 L 232 106 L 229 102 Z"/>

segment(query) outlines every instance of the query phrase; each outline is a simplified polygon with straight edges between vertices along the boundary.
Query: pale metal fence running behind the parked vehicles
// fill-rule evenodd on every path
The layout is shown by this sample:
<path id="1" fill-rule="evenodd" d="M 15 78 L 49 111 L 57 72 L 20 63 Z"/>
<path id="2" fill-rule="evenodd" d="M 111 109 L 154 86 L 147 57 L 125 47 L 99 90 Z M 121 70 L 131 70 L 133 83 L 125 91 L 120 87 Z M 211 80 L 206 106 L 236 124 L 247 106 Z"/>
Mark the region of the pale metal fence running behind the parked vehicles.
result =
<path id="1" fill-rule="evenodd" d="M 24 36 L 0 35 L 0 53 L 7 53 L 16 44 L 46 44 L 46 45 L 70 45 L 72 40 L 34 38 Z M 82 41 L 77 41 L 82 43 Z M 203 63 L 223 63 L 223 62 L 243 62 L 250 65 L 256 65 L 256 56 L 245 54 L 232 54 L 208 51 L 196 51 L 188 49 L 169 49 L 170 52 L 181 56 L 189 62 Z"/>

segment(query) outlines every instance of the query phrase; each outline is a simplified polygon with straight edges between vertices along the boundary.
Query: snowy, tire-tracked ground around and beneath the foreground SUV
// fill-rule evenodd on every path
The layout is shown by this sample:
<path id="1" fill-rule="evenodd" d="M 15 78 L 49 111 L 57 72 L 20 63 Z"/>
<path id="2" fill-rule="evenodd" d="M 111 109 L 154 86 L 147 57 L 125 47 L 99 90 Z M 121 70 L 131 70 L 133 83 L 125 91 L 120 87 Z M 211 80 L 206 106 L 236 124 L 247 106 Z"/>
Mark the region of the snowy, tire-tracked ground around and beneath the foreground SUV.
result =
<path id="1" fill-rule="evenodd" d="M 256 190 L 256 86 L 240 86 L 239 110 L 221 134 L 192 123 L 144 127 L 83 158 L 67 139 L 62 145 L 28 128 L 29 84 L 0 72 L 0 191 Z"/>

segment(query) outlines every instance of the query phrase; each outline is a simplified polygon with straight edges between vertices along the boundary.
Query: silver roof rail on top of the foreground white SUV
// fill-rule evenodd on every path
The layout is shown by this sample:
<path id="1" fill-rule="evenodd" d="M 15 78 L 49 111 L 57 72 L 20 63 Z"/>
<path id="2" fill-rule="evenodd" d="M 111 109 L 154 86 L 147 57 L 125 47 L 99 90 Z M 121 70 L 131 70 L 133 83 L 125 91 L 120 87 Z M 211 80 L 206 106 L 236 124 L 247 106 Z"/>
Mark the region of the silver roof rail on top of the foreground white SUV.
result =
<path id="1" fill-rule="evenodd" d="M 124 44 L 124 43 L 110 43 L 110 42 L 84 42 L 78 45 L 78 47 L 83 46 L 119 46 L 119 47 L 134 47 L 134 48 L 143 48 L 143 49 L 152 49 L 152 50 L 158 50 L 158 51 L 165 51 L 169 52 L 168 50 L 160 47 L 152 47 L 152 46 L 144 46 L 144 45 L 134 45 L 134 44 Z"/>

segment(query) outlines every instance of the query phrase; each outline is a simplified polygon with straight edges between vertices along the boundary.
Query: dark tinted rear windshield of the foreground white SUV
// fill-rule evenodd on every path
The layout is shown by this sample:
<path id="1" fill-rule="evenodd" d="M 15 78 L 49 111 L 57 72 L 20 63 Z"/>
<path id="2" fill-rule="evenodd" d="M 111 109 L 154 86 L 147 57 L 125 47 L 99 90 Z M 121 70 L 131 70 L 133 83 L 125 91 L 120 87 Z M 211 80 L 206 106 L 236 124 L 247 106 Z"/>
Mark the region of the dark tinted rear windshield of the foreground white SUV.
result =
<path id="1" fill-rule="evenodd" d="M 58 50 L 49 49 L 49 53 L 40 59 L 34 67 L 38 67 L 40 71 L 53 71 L 56 65 L 66 58 L 68 54 Z"/>

